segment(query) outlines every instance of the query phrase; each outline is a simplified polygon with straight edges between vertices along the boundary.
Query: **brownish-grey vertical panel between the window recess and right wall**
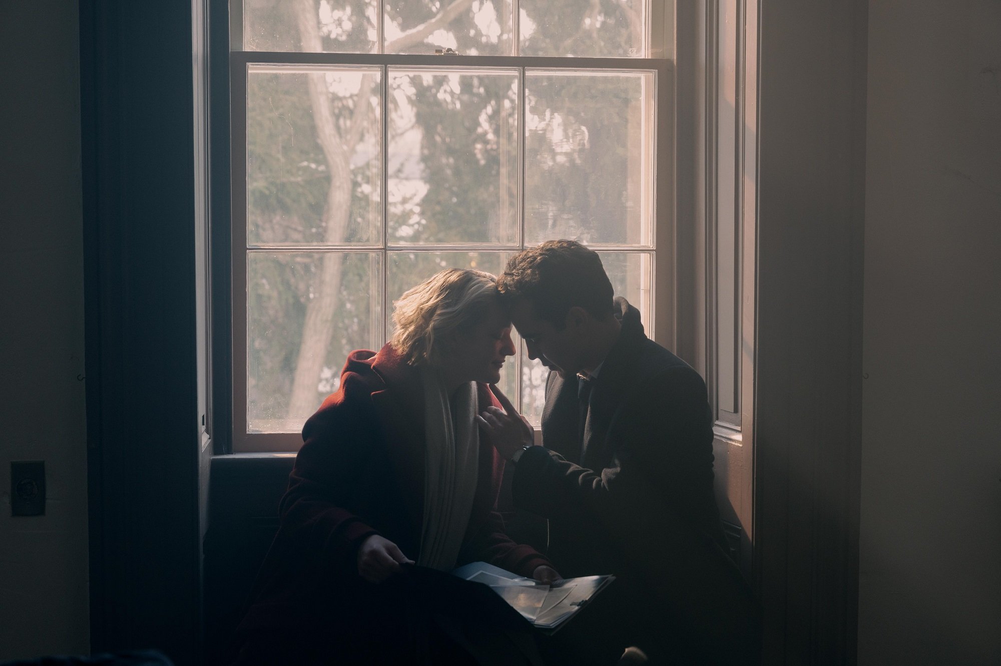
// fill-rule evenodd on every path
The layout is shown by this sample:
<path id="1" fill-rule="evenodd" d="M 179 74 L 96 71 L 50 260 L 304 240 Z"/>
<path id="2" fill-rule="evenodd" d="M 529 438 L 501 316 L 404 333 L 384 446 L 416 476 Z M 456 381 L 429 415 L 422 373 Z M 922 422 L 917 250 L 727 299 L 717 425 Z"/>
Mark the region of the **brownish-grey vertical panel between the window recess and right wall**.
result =
<path id="1" fill-rule="evenodd" d="M 858 625 L 867 0 L 760 6 L 754 557 L 763 663 L 846 664 Z"/>

